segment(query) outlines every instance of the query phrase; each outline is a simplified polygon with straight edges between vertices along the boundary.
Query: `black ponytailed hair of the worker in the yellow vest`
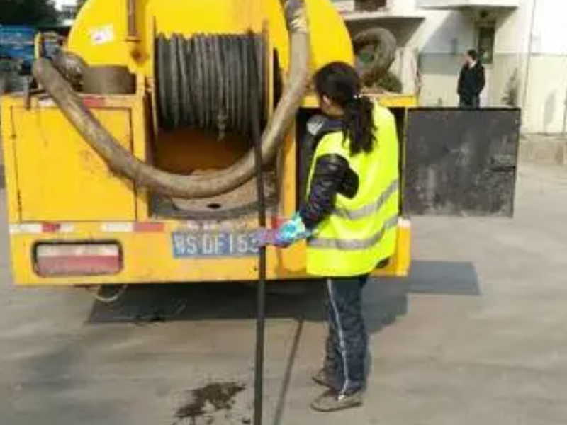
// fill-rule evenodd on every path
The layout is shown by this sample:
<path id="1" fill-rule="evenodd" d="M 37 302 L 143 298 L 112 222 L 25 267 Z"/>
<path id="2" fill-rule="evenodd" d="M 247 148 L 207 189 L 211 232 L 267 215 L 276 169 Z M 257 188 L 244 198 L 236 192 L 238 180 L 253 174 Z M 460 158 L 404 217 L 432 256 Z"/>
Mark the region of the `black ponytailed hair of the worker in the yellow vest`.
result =
<path id="1" fill-rule="evenodd" d="M 315 90 L 327 96 L 344 110 L 344 139 L 350 140 L 352 155 L 371 152 L 376 142 L 374 104 L 361 96 L 361 79 L 357 71 L 344 62 L 332 62 L 315 74 Z"/>

